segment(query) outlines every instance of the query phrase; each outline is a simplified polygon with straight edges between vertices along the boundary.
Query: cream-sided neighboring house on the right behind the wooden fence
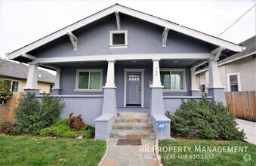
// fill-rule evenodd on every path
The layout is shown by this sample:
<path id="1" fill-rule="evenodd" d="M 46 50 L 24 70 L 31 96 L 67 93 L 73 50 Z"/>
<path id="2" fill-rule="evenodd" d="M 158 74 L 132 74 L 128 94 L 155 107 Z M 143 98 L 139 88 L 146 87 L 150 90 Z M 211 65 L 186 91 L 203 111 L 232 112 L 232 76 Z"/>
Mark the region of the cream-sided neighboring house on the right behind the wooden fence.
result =
<path id="1" fill-rule="evenodd" d="M 221 85 L 225 91 L 256 91 L 256 35 L 239 45 L 245 51 L 217 62 Z M 196 72 L 196 80 L 202 91 L 207 92 L 209 81 L 208 68 Z"/>

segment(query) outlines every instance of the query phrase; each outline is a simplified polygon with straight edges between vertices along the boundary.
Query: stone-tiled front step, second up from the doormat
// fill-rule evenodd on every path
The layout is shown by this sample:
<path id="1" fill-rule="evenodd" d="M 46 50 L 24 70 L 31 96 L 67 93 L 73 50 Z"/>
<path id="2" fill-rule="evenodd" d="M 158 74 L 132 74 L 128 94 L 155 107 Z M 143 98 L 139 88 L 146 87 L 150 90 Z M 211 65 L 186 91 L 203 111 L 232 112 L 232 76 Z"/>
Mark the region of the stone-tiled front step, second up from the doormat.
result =
<path id="1" fill-rule="evenodd" d="M 112 126 L 113 130 L 153 130 L 152 123 L 114 123 Z"/>

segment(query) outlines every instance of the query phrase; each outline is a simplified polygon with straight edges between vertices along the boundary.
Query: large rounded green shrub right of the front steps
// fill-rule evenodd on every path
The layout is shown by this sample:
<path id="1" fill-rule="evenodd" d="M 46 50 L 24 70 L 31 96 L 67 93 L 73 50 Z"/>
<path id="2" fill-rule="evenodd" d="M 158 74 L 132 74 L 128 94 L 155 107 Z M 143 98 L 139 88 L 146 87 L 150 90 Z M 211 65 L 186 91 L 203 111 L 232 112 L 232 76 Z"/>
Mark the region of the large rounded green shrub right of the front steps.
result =
<path id="1" fill-rule="evenodd" d="M 182 100 L 180 109 L 171 118 L 171 134 L 181 137 L 200 137 L 205 139 L 244 140 L 245 133 L 236 128 L 236 117 L 223 103 L 216 103 L 202 97 Z"/>

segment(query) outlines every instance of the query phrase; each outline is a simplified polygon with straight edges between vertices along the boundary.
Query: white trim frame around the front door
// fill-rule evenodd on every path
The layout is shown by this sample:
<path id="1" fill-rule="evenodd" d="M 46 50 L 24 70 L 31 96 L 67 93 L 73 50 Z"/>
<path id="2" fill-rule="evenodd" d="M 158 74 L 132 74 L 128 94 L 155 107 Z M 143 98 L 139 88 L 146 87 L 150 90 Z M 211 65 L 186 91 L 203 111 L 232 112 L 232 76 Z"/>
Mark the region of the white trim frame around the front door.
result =
<path id="1" fill-rule="evenodd" d="M 124 69 L 124 107 L 126 107 L 127 102 L 127 72 L 140 72 L 141 73 L 141 108 L 144 108 L 144 71 L 145 69 Z"/>

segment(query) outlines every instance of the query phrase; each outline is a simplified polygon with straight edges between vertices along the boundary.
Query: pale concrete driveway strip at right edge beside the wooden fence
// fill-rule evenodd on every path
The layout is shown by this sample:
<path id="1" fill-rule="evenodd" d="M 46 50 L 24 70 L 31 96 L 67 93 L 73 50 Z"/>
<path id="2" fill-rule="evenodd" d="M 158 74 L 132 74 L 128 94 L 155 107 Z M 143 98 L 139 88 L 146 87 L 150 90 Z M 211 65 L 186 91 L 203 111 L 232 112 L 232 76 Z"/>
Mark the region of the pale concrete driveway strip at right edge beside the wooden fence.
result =
<path id="1" fill-rule="evenodd" d="M 245 141 L 256 145 L 256 122 L 245 121 L 239 118 L 236 118 L 236 122 L 238 123 L 239 131 L 242 129 L 245 131 L 245 137 L 247 137 Z"/>

